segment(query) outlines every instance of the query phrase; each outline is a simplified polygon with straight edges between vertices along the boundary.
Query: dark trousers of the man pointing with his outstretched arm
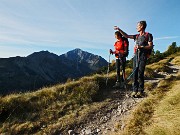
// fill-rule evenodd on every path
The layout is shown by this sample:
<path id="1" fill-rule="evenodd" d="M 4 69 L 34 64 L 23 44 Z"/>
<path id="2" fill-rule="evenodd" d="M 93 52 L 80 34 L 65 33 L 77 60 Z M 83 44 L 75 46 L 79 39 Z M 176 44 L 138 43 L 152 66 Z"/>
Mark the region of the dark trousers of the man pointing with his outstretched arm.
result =
<path id="1" fill-rule="evenodd" d="M 133 75 L 133 91 L 144 92 L 144 71 L 147 57 L 145 54 L 140 54 L 139 60 L 137 59 L 137 56 L 135 56 L 133 61 L 133 67 L 136 69 Z"/>

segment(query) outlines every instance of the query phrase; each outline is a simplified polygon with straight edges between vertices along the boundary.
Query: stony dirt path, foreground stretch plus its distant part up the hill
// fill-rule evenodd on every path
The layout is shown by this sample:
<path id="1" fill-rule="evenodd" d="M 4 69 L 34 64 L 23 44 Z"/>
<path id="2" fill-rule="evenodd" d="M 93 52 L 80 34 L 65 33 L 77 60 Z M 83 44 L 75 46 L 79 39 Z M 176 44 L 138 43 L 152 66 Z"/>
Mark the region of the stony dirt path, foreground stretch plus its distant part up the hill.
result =
<path id="1" fill-rule="evenodd" d="M 145 80 L 146 82 L 155 83 L 158 82 L 168 75 L 177 75 L 180 72 L 180 66 L 172 65 L 169 63 L 169 67 L 172 69 L 170 73 L 159 72 L 163 78 L 154 78 L 153 80 Z M 111 135 L 117 130 L 123 130 L 125 127 L 124 119 L 127 117 L 133 107 L 135 107 L 144 98 L 131 98 L 128 95 L 130 91 L 123 92 L 113 90 L 110 93 L 112 100 L 109 101 L 108 105 L 100 108 L 98 112 L 95 112 L 88 116 L 86 122 L 76 127 L 74 130 L 69 130 L 70 135 Z"/>

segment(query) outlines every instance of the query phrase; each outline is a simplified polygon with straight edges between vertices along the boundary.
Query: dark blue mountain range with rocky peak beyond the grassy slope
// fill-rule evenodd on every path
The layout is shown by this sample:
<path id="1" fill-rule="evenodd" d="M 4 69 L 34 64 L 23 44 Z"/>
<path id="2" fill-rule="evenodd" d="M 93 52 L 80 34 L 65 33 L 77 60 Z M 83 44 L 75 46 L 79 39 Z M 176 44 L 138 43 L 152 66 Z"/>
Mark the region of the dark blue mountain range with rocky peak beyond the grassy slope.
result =
<path id="1" fill-rule="evenodd" d="M 74 49 L 62 55 L 48 51 L 27 57 L 0 58 L 0 95 L 36 90 L 88 75 L 107 65 L 101 56 Z"/>

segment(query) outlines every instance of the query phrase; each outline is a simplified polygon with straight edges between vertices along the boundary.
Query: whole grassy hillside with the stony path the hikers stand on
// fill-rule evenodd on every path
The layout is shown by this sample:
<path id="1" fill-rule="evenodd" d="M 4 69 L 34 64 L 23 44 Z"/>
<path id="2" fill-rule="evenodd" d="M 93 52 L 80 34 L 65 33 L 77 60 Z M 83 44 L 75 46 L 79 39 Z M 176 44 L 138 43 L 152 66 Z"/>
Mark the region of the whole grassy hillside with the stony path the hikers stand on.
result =
<path id="1" fill-rule="evenodd" d="M 170 119 L 172 123 L 177 122 L 179 100 L 175 95 L 178 95 L 179 59 L 180 53 L 176 53 L 147 66 L 146 98 L 130 98 L 131 84 L 127 85 L 127 91 L 112 89 L 115 72 L 109 74 L 108 86 L 106 74 L 95 74 L 36 92 L 1 97 L 0 133 L 138 135 L 149 133 L 154 127 L 153 121 L 160 127 L 159 132 L 164 127 L 158 120 L 161 116 L 166 118 L 162 115 L 164 110 L 169 111 L 163 103 L 172 105 L 174 115 Z M 129 74 L 131 70 L 127 71 Z M 176 100 L 171 101 L 169 97 Z M 167 122 L 170 121 L 167 119 Z M 152 134 L 157 131 L 153 130 Z M 179 131 L 179 128 L 171 128 L 167 133 L 172 130 Z"/>

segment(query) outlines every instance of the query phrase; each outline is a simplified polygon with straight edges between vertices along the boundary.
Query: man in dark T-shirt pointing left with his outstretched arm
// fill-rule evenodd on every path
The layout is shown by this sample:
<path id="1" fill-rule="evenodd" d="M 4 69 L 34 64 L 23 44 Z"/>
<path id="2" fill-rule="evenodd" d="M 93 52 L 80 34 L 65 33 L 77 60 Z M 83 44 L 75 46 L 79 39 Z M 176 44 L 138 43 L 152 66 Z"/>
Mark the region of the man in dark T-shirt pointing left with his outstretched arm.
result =
<path id="1" fill-rule="evenodd" d="M 153 36 L 150 33 L 145 32 L 146 21 L 140 21 L 137 23 L 137 31 L 139 34 L 128 35 L 122 31 L 119 27 L 114 26 L 115 30 L 118 30 L 124 37 L 134 39 L 136 41 L 135 50 L 138 53 L 138 66 L 134 73 L 134 84 L 133 84 L 133 97 L 143 97 L 144 95 L 144 70 L 147 61 L 148 50 L 153 48 Z M 147 38 L 146 38 L 147 36 Z"/>

